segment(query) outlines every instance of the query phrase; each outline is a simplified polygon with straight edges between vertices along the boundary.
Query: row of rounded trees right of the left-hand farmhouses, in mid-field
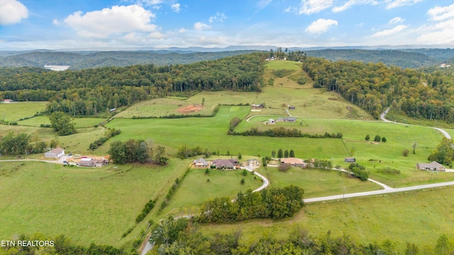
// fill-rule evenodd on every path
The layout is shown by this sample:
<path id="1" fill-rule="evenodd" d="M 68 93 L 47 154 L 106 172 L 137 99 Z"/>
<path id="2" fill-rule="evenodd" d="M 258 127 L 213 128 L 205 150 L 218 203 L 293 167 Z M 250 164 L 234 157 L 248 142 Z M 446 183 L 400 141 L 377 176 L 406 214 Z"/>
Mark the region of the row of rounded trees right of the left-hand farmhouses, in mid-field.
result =
<path id="1" fill-rule="evenodd" d="M 153 147 L 153 142 L 145 142 L 144 140 L 130 139 L 126 142 L 112 142 L 108 153 L 116 164 L 145 163 L 150 160 L 159 164 L 166 164 L 169 160 L 165 153 L 165 147 L 160 145 Z"/>

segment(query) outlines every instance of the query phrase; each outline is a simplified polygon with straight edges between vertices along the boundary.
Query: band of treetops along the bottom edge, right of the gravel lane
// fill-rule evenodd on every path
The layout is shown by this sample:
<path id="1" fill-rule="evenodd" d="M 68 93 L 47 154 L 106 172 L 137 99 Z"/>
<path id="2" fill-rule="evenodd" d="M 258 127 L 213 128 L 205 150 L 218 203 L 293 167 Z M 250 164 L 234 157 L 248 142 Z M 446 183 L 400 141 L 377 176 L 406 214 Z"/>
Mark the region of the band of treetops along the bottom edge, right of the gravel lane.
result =
<path id="1" fill-rule="evenodd" d="M 153 225 L 150 243 L 155 246 L 151 254 L 427 254 L 449 255 L 454 252 L 454 240 L 446 234 L 435 237 L 434 246 L 406 243 L 404 249 L 389 239 L 360 244 L 354 238 L 343 234 L 335 237 L 331 231 L 317 237 L 303 227 L 292 227 L 287 238 L 275 237 L 273 233 L 262 233 L 261 237 L 240 242 L 240 231 L 228 234 L 202 234 L 199 226 L 186 218 L 177 220 L 169 217 Z"/>

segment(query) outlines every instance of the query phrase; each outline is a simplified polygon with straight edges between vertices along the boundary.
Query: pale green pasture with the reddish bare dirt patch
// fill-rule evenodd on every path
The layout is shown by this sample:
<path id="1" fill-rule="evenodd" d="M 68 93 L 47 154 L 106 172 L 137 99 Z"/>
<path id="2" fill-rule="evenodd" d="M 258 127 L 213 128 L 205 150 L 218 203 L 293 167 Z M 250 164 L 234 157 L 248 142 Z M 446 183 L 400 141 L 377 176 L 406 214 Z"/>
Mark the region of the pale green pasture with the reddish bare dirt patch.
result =
<path id="1" fill-rule="evenodd" d="M 253 103 L 258 93 L 254 92 L 233 92 L 233 91 L 203 91 L 187 99 L 167 97 L 156 98 L 150 101 L 143 101 L 122 111 L 116 115 L 117 118 L 160 117 L 166 115 L 201 114 L 211 115 L 218 104 L 240 104 Z M 202 101 L 204 105 L 202 106 Z M 179 110 L 188 106 L 199 106 L 200 111 L 193 113 L 180 113 Z"/>

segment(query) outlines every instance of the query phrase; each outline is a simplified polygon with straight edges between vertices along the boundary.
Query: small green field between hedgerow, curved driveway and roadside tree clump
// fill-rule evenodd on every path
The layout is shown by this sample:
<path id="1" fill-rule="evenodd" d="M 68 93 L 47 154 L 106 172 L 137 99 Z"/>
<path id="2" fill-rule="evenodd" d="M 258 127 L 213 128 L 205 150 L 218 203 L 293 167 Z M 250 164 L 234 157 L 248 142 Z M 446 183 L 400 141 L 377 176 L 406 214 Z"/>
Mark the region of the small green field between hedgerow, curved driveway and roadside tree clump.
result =
<path id="1" fill-rule="evenodd" d="M 213 157 L 212 159 L 216 159 Z M 178 160 L 178 159 L 176 159 Z M 262 186 L 260 178 L 248 172 L 243 176 L 243 170 L 221 171 L 209 169 L 209 174 L 205 174 L 206 169 L 191 169 L 177 192 L 173 196 L 167 208 L 162 214 L 188 215 L 200 213 L 202 203 L 210 198 L 228 196 L 235 198 L 239 191 L 247 191 L 249 188 L 255 189 Z M 207 181 L 209 179 L 209 181 Z M 240 183 L 245 179 L 245 183 Z"/>

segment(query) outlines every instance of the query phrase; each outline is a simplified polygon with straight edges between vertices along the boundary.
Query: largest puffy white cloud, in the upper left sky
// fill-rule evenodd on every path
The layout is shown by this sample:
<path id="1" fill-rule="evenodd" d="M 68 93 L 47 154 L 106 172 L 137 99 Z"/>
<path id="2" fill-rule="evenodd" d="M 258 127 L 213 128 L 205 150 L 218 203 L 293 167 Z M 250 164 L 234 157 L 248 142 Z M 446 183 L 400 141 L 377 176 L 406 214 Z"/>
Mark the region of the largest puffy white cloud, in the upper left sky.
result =
<path id="1" fill-rule="evenodd" d="M 82 11 L 72 13 L 64 22 L 79 35 L 92 38 L 107 38 L 115 33 L 133 31 L 152 32 L 156 26 L 151 24 L 155 14 L 138 5 L 112 6 L 101 11 Z M 55 23 L 55 22 L 54 22 Z"/>

